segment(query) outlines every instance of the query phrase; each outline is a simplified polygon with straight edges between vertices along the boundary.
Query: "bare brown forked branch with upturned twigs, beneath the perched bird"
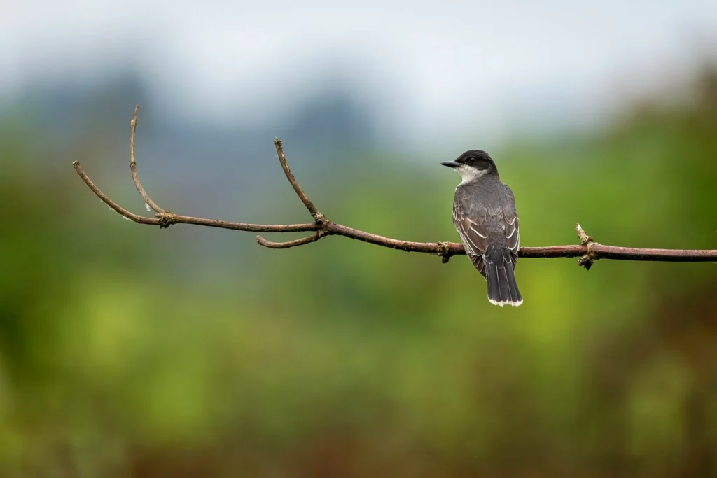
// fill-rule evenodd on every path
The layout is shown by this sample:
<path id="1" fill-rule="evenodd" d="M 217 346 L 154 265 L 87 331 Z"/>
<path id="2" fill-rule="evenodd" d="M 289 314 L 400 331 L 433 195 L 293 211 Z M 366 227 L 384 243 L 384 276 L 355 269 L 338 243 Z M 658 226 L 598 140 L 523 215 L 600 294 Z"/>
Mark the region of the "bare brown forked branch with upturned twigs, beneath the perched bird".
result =
<path id="1" fill-rule="evenodd" d="M 133 214 L 121 206 L 116 204 L 114 201 L 105 196 L 100 189 L 95 186 L 90 178 L 87 177 L 85 171 L 82 171 L 80 163 L 75 161 L 72 163 L 77 174 L 85 181 L 85 184 L 100 198 L 105 204 L 110 206 L 113 210 L 117 211 L 125 218 L 135 221 L 138 224 L 150 224 L 152 226 L 160 226 L 160 228 L 166 228 L 171 224 L 194 224 L 196 226 L 209 226 L 219 227 L 222 229 L 232 229 L 235 231 L 254 231 L 254 232 L 300 232 L 300 231 L 315 231 L 315 234 L 306 236 L 301 239 L 295 239 L 288 242 L 271 242 L 267 241 L 261 236 L 257 236 L 257 243 L 264 247 L 271 249 L 288 249 L 290 247 L 303 246 L 310 242 L 316 242 L 325 236 L 344 236 L 349 239 L 356 239 L 362 242 L 368 242 L 369 244 L 376 244 L 381 247 L 389 247 L 391 249 L 400 249 L 406 252 L 423 252 L 427 254 L 435 254 L 442 257 L 443 262 L 448 262 L 450 257 L 455 255 L 465 254 L 462 244 L 455 242 L 410 242 L 401 241 L 399 239 L 391 239 L 389 237 L 379 236 L 377 234 L 371 234 L 366 231 L 360 231 L 359 229 L 353 229 L 352 227 L 342 226 L 335 222 L 329 221 L 326 217 L 321 214 L 318 209 L 310 201 L 306 193 L 299 186 L 298 181 L 294 177 L 293 173 L 289 168 L 289 164 L 286 161 L 284 154 L 284 148 L 279 138 L 275 140 L 275 147 L 277 155 L 279 156 L 279 162 L 284 170 L 286 178 L 294 188 L 294 191 L 299 199 L 303 202 L 308 209 L 309 213 L 314 219 L 313 223 L 310 224 L 246 224 L 239 222 L 221 221 L 219 219 L 203 219 L 192 216 L 181 216 L 174 214 L 171 211 L 166 211 L 161 207 L 157 206 L 148 196 L 141 182 L 137 176 L 137 164 L 135 161 L 134 153 L 134 142 L 135 142 L 135 130 L 137 128 L 137 112 L 138 106 L 135 107 L 134 116 L 132 119 L 132 128 L 130 135 L 130 171 L 132 172 L 132 179 L 135 183 L 137 191 L 139 191 L 142 198 L 145 200 L 151 209 L 156 211 L 156 217 L 145 217 Z M 717 262 L 717 250 L 698 249 L 698 250 L 686 250 L 686 249 L 640 249 L 635 247 L 615 247 L 606 246 L 594 242 L 592 236 L 589 236 L 580 226 L 576 224 L 575 231 L 578 234 L 580 244 L 568 245 L 568 246 L 549 246 L 549 247 L 521 247 L 518 251 L 518 257 L 524 258 L 553 258 L 553 257 L 579 257 L 578 264 L 586 269 L 592 267 L 592 264 L 597 259 L 617 259 L 617 260 L 629 260 L 629 261 L 664 261 L 664 262 Z"/>

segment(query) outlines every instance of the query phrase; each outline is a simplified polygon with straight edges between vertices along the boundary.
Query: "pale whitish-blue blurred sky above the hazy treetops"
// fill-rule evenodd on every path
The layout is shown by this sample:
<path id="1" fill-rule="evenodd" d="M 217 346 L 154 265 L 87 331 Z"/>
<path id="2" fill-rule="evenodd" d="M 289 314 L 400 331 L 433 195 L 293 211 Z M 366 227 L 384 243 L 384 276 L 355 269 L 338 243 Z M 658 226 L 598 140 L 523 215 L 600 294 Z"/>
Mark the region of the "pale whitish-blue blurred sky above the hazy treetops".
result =
<path id="1" fill-rule="evenodd" d="M 262 123 L 338 77 L 427 141 L 599 121 L 716 52 L 714 0 L 0 0 L 4 98 L 133 65 L 175 115 Z"/>

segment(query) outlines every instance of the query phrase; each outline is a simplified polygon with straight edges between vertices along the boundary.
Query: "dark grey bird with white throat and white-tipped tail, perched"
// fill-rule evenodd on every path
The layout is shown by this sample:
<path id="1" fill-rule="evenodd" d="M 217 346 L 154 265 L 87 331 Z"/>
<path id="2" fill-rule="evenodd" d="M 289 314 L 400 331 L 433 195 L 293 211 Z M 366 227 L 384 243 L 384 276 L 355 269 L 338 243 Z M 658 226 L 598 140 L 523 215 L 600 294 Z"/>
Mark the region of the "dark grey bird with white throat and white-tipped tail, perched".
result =
<path id="1" fill-rule="evenodd" d="M 523 297 L 513 274 L 520 247 L 513 191 L 500 181 L 498 168 L 485 151 L 466 151 L 441 164 L 463 179 L 455 188 L 453 224 L 470 262 L 488 282 L 488 301 L 501 307 L 521 305 Z"/>

